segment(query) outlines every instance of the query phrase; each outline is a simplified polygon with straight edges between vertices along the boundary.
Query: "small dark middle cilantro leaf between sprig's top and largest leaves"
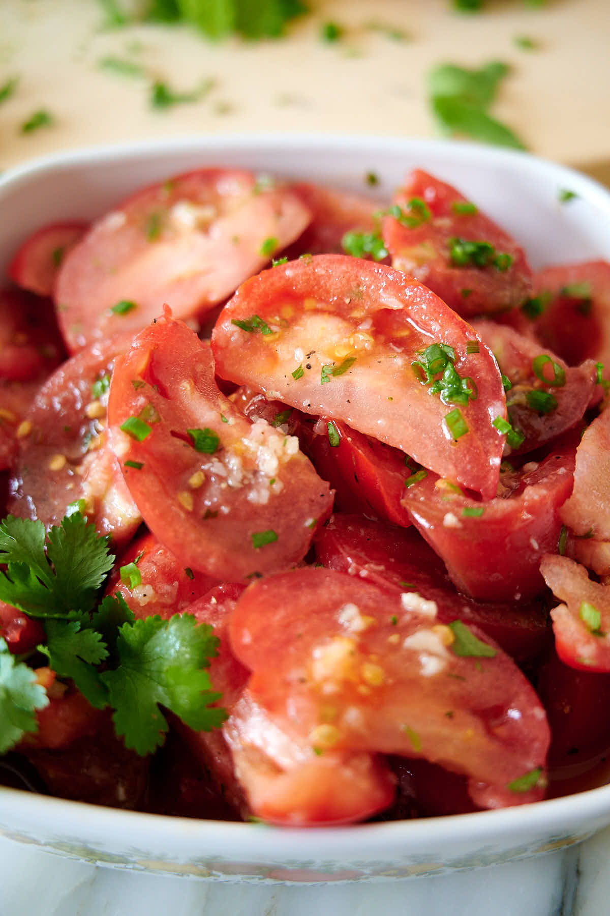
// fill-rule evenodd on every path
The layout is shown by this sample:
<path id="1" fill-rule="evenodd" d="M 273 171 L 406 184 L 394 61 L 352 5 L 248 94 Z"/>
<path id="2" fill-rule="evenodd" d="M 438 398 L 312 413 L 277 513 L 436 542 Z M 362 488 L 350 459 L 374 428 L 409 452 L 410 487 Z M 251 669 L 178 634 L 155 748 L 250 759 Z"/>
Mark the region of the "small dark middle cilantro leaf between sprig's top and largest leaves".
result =
<path id="1" fill-rule="evenodd" d="M 48 657 L 60 678 L 72 679 L 91 706 L 103 709 L 108 704 L 108 690 L 93 667 L 108 655 L 102 634 L 81 629 L 79 620 L 48 620 L 45 631 L 47 645 L 38 646 L 38 651 Z"/>

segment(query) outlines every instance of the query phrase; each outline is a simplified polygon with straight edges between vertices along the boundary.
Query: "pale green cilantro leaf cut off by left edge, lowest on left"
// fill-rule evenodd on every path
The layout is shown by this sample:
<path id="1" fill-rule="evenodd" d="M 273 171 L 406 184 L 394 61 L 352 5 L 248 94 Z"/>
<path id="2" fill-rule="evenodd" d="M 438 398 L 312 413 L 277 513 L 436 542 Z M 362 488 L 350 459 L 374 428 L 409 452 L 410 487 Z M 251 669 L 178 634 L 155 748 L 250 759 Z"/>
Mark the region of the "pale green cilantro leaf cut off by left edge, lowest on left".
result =
<path id="1" fill-rule="evenodd" d="M 16 745 L 26 732 L 37 731 L 36 710 L 48 705 L 48 696 L 36 674 L 16 661 L 0 638 L 0 754 Z"/>

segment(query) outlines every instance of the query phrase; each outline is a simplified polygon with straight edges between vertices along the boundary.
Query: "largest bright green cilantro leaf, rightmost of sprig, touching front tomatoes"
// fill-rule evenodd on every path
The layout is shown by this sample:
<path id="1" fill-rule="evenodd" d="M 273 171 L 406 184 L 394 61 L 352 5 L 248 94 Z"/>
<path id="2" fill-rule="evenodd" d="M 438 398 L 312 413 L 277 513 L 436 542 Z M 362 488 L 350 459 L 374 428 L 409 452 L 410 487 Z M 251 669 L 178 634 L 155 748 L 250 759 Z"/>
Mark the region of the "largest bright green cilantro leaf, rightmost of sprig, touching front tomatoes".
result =
<path id="1" fill-rule="evenodd" d="M 189 614 L 169 620 L 150 616 L 119 631 L 120 667 L 101 677 L 115 710 L 116 733 L 140 755 L 165 740 L 168 725 L 159 703 L 196 730 L 209 730 L 227 717 L 224 710 L 208 707 L 220 694 L 211 691 L 203 670 L 217 654 L 219 640 L 211 627 L 196 623 Z"/>

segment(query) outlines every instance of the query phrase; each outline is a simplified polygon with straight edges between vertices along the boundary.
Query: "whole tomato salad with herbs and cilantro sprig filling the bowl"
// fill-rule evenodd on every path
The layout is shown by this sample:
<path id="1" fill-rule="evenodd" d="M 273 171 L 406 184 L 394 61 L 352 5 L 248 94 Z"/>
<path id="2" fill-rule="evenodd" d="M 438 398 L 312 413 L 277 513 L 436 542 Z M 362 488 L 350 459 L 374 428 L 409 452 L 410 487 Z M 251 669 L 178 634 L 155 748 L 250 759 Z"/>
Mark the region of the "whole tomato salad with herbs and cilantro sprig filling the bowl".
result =
<path id="1" fill-rule="evenodd" d="M 0 292 L 6 779 L 293 825 L 570 791 L 610 749 L 609 303 L 421 169 L 40 227 Z"/>

